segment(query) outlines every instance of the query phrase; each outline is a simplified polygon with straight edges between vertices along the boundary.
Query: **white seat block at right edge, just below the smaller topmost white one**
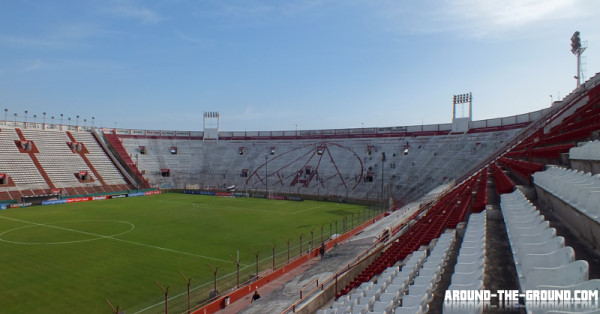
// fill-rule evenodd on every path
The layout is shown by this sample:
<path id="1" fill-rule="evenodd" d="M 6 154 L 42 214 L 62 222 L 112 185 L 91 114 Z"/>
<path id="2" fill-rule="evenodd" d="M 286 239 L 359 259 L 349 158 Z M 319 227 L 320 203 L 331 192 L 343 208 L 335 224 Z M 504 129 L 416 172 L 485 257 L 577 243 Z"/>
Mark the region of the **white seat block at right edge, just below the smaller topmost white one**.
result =
<path id="1" fill-rule="evenodd" d="M 536 186 L 600 222 L 600 175 L 551 166 L 533 178 Z"/>

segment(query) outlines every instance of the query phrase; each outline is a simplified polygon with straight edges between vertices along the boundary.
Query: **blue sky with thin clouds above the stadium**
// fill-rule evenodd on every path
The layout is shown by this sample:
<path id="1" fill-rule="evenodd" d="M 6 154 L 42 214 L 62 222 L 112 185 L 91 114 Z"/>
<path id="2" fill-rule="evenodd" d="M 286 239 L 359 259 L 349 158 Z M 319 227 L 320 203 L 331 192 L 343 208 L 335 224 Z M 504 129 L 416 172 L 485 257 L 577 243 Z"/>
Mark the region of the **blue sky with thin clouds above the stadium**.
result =
<path id="1" fill-rule="evenodd" d="M 0 1 L 0 107 L 121 128 L 201 130 L 219 111 L 221 130 L 326 129 L 447 123 L 452 95 L 472 92 L 475 120 L 509 116 L 573 90 L 574 31 L 586 77 L 598 72 L 597 12 L 596 0 Z"/>

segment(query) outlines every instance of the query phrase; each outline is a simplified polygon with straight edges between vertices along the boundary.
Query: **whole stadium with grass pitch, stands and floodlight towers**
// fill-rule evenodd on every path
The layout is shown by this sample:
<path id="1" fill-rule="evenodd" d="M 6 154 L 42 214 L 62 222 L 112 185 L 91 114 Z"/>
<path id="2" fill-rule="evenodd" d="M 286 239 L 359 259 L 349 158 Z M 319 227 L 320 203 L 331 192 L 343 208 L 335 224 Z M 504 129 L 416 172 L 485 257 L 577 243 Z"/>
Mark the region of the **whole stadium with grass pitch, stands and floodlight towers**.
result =
<path id="1" fill-rule="evenodd" d="M 0 313 L 599 313 L 600 74 L 579 35 L 575 89 L 490 119 L 472 93 L 447 123 L 295 130 L 5 109 Z"/>

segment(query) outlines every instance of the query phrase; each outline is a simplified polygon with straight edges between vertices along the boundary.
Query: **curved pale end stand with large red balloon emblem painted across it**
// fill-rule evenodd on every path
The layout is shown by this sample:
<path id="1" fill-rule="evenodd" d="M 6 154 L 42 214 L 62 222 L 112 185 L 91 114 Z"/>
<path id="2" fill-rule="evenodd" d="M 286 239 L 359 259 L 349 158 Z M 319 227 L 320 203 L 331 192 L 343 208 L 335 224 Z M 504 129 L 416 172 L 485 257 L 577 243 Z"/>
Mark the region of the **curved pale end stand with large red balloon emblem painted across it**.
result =
<path id="1" fill-rule="evenodd" d="M 218 140 L 205 140 L 201 132 L 115 132 L 128 152 L 125 158 L 135 158 L 153 186 L 236 186 L 241 191 L 408 203 L 459 177 L 542 114 L 473 121 L 474 128 L 458 133 L 452 132 L 452 124 L 220 132 Z"/>

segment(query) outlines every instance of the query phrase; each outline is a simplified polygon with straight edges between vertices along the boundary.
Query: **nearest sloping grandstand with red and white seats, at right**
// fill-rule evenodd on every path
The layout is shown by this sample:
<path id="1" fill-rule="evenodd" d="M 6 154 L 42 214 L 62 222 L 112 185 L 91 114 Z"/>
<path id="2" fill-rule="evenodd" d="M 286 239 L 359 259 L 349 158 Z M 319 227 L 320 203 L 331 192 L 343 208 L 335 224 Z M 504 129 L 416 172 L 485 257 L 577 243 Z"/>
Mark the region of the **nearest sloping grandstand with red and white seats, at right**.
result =
<path id="1" fill-rule="evenodd" d="M 490 302 L 444 303 L 446 291 L 598 291 L 599 84 L 596 75 L 473 168 L 337 289 L 335 302 L 321 301 L 319 312 L 481 313 L 489 311 Z M 464 226 L 457 224 L 462 221 Z M 491 245 L 498 240 L 508 246 Z M 555 305 L 565 313 L 599 306 L 597 298 Z M 523 298 L 512 307 L 495 306 L 534 313 L 553 309 Z"/>

